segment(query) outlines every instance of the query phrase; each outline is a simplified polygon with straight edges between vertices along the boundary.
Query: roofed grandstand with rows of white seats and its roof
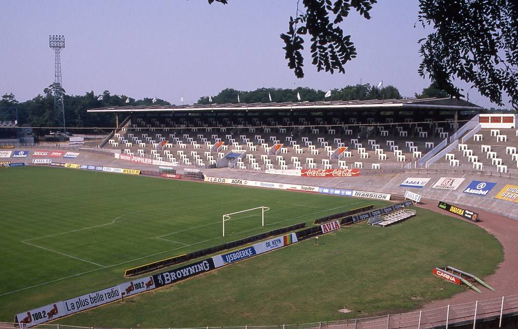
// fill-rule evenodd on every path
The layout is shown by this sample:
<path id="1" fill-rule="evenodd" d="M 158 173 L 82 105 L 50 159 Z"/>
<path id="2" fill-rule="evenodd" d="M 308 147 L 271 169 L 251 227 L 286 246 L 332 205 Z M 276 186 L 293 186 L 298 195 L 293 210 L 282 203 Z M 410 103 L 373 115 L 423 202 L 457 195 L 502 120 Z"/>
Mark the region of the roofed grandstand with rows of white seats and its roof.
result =
<path id="1" fill-rule="evenodd" d="M 482 159 L 481 145 L 492 137 L 484 132 L 478 137 L 482 111 L 482 107 L 455 98 L 89 110 L 124 117 L 100 148 L 173 166 L 254 171 L 359 168 L 376 172 L 451 165 L 457 169 L 516 171 L 516 159 L 510 151 L 501 162 Z M 498 156 L 505 155 L 505 145 L 515 145 L 511 125 L 508 130 L 502 128 L 499 134 L 507 135 L 507 140 L 493 136 L 496 145 L 492 150 Z M 475 135 L 477 139 L 473 139 Z M 468 147 L 476 148 L 471 156 L 479 155 L 478 159 L 462 153 Z M 447 158 L 446 153 L 454 156 Z"/>

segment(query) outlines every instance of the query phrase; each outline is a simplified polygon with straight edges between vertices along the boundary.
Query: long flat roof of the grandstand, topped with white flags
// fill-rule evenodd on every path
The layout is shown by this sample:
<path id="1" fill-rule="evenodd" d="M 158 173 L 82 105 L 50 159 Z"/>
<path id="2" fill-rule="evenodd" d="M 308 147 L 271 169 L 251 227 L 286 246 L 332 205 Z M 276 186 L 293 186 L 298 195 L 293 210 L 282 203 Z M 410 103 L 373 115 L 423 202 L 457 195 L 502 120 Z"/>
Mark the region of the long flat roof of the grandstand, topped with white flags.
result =
<path id="1" fill-rule="evenodd" d="M 320 101 L 320 102 L 286 102 L 286 103 L 227 103 L 227 104 L 194 104 L 194 105 L 130 105 L 111 106 L 88 110 L 88 112 L 209 112 L 221 111 L 282 111 L 282 110 L 357 110 L 371 108 L 373 110 L 463 110 L 483 111 L 484 108 L 456 98 L 405 98 L 405 99 L 371 99 L 368 101 Z"/>

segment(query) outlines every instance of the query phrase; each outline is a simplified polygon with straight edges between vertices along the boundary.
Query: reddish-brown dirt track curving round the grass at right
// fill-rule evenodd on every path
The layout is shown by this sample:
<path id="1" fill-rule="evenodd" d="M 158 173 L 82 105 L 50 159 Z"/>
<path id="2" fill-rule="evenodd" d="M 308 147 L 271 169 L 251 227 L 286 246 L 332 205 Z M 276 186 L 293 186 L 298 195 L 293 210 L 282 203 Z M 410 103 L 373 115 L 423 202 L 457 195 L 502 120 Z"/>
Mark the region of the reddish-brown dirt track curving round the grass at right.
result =
<path id="1" fill-rule="evenodd" d="M 451 216 L 450 212 L 438 208 L 436 201 L 424 200 L 422 202 L 423 204 L 419 207 Z M 518 282 L 518 221 L 484 210 L 476 211 L 482 221 L 473 223 L 473 225 L 478 225 L 488 233 L 493 234 L 503 246 L 503 262 L 499 264 L 495 274 L 484 278 L 484 282 L 493 287 L 495 291 L 482 288 L 480 294 L 474 290 L 466 289 L 465 292 L 456 294 L 452 298 L 425 304 L 421 307 L 422 310 L 518 294 L 518 284 L 516 284 Z M 466 248 L 469 248 L 469 246 L 466 246 Z"/>

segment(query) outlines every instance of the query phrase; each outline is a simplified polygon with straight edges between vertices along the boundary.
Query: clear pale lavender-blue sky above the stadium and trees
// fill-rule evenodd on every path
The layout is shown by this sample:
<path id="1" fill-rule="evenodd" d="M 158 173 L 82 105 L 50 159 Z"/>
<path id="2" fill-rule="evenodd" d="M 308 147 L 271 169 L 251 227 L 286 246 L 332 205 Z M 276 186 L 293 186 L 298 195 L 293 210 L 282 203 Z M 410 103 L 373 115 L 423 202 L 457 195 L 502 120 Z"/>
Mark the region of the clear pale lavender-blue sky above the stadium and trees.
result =
<path id="1" fill-rule="evenodd" d="M 296 15 L 297 0 L 229 0 L 227 5 L 207 0 L 0 0 L 0 5 L 0 94 L 12 93 L 19 102 L 43 94 L 54 82 L 49 35 L 65 36 L 60 58 L 68 95 L 108 90 L 180 105 L 182 97 L 184 104 L 193 104 L 226 88 L 327 91 L 383 81 L 401 96 L 413 97 L 430 85 L 418 74 L 418 40 L 431 30 L 417 21 L 417 0 L 380 0 L 370 20 L 350 13 L 340 26 L 351 35 L 357 58 L 346 64 L 345 75 L 317 72 L 306 37 L 303 79 L 287 67 L 279 37 Z M 465 91 L 471 87 L 456 85 Z M 498 108 L 474 89 L 469 101 Z"/>

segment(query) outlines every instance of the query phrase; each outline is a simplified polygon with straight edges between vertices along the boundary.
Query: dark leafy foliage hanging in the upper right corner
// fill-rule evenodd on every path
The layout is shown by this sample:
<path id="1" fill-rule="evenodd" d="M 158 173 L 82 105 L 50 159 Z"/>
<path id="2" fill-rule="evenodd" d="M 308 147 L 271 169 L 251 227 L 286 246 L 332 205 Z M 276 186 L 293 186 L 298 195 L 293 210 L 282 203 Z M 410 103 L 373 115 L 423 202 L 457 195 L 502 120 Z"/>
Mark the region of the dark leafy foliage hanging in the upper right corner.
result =
<path id="1" fill-rule="evenodd" d="M 436 30 L 420 40 L 419 73 L 439 89 L 462 96 L 453 80 L 472 83 L 502 105 L 518 103 L 518 5 L 508 0 L 421 0 L 419 21 Z"/>

